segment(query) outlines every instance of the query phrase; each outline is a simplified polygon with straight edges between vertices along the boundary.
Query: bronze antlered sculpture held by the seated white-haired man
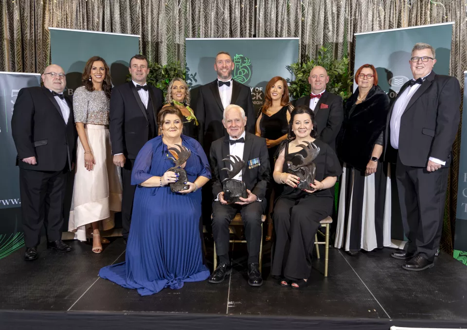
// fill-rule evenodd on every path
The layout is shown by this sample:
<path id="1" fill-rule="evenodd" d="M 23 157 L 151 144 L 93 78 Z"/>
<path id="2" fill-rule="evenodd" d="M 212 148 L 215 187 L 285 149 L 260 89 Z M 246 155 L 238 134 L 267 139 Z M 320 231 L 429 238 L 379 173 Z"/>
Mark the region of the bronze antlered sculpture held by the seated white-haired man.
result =
<path id="1" fill-rule="evenodd" d="M 226 170 L 229 177 L 222 180 L 222 187 L 224 191 L 224 200 L 228 203 L 241 202 L 238 197 L 247 198 L 247 188 L 245 182 L 234 179 L 234 176 L 239 174 L 245 166 L 245 162 L 239 156 L 227 155 L 229 158 L 222 159 L 223 161 L 232 165 L 232 170 L 223 168 Z M 232 159 L 230 159 L 232 157 Z"/>

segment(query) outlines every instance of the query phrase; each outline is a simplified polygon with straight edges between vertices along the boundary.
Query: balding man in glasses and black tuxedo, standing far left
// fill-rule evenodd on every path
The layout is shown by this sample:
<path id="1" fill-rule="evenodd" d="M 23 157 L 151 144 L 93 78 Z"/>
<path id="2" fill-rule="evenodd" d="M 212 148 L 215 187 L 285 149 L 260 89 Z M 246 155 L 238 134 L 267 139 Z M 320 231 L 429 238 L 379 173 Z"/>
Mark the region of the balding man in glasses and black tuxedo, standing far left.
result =
<path id="1" fill-rule="evenodd" d="M 48 248 L 72 249 L 61 241 L 67 172 L 74 165 L 76 142 L 72 103 L 63 95 L 67 80 L 62 68 L 50 65 L 41 78 L 43 87 L 19 90 L 11 118 L 18 151 L 25 260 L 37 259 L 42 224 Z"/>

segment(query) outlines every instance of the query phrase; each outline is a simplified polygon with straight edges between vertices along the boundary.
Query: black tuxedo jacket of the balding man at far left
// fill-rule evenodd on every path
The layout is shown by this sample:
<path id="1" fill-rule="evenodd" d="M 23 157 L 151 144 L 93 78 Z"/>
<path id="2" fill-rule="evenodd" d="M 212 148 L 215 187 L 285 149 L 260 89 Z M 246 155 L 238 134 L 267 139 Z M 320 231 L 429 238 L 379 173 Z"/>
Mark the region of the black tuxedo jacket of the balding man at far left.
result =
<path id="1" fill-rule="evenodd" d="M 60 106 L 46 87 L 21 88 L 11 118 L 11 133 L 18 151 L 17 165 L 26 170 L 61 171 L 75 156 L 76 130 L 72 102 L 65 123 Z M 21 159 L 36 157 L 36 165 Z"/>

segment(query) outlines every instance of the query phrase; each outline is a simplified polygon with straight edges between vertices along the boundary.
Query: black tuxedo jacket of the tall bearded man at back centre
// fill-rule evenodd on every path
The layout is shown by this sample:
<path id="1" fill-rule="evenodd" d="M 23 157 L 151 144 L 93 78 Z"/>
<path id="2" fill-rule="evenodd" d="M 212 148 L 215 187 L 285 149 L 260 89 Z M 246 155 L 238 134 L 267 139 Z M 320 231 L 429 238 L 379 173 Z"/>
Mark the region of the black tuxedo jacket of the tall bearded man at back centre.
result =
<path id="1" fill-rule="evenodd" d="M 243 108 L 245 116 L 247 116 L 247 127 L 245 130 L 254 134 L 256 117 L 254 115 L 250 87 L 233 80 L 232 99 L 230 103 Z M 223 113 L 224 107 L 220 99 L 217 79 L 212 83 L 199 87 L 195 115 L 199 122 L 198 141 L 206 152 L 209 150 L 213 141 L 229 136 L 222 124 Z"/>

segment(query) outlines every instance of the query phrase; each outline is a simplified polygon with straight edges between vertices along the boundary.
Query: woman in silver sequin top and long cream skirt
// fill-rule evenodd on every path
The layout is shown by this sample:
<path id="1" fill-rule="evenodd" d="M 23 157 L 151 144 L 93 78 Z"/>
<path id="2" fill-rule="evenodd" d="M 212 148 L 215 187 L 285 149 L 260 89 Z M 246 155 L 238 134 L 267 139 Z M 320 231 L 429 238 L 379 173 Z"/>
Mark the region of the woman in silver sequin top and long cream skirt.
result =
<path id="1" fill-rule="evenodd" d="M 114 213 L 121 210 L 122 183 L 113 164 L 108 133 L 111 82 L 107 63 L 91 57 L 82 76 L 83 85 L 73 95 L 73 113 L 78 131 L 76 169 L 68 230 L 85 241 L 92 229 L 92 252 L 101 253 L 100 229 L 114 226 Z"/>

